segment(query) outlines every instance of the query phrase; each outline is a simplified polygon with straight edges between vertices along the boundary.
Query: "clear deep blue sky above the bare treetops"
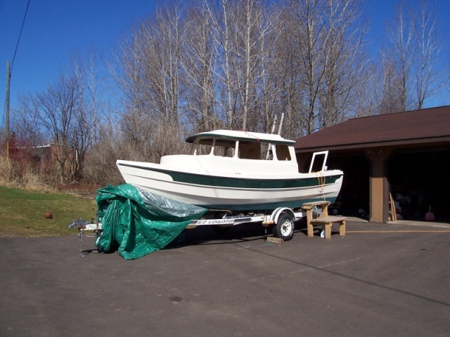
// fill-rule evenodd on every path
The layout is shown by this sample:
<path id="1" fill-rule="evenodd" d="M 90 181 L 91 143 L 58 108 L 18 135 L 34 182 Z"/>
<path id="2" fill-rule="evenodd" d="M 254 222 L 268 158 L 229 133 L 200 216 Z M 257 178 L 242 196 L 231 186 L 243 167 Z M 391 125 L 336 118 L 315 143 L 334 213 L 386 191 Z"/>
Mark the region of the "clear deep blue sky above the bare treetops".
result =
<path id="1" fill-rule="evenodd" d="M 367 1 L 364 15 L 371 23 L 368 40 L 373 50 L 379 46 L 383 26 L 392 18 L 396 2 Z M 13 62 L 27 3 L 0 0 L 0 126 L 4 125 L 6 61 Z M 31 0 L 12 65 L 10 107 L 16 104 L 19 93 L 38 92 L 56 79 L 61 67 L 68 64 L 70 51 L 94 46 L 98 53 L 108 54 L 133 23 L 148 16 L 154 6 L 154 0 Z M 444 37 L 442 56 L 449 63 L 450 24 L 446 14 L 450 13 L 450 1 L 437 0 L 437 6 Z M 450 104 L 449 91 L 436 98 L 432 106 L 445 104 Z"/>

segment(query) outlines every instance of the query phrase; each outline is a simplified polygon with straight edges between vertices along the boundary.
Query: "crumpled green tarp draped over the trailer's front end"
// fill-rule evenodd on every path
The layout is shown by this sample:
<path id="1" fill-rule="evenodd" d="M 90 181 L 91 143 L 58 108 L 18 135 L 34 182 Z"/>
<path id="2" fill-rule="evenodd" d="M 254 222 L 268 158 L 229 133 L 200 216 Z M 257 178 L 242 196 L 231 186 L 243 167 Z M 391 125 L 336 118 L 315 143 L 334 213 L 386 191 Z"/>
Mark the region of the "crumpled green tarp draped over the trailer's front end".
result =
<path id="1" fill-rule="evenodd" d="M 207 211 L 129 184 L 108 185 L 97 192 L 103 232 L 96 246 L 105 252 L 117 249 L 127 260 L 164 248 Z"/>

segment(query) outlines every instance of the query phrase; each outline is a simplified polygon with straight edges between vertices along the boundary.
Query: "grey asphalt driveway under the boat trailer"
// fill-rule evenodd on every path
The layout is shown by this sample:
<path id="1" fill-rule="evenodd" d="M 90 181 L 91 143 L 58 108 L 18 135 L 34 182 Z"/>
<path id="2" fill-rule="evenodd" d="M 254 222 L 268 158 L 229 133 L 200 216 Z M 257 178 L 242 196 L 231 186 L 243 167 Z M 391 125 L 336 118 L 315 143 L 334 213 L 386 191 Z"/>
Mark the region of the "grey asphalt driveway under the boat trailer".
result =
<path id="1" fill-rule="evenodd" d="M 347 222 L 326 240 L 186 232 L 137 260 L 94 238 L 0 239 L 0 336 L 449 336 L 450 226 Z"/>

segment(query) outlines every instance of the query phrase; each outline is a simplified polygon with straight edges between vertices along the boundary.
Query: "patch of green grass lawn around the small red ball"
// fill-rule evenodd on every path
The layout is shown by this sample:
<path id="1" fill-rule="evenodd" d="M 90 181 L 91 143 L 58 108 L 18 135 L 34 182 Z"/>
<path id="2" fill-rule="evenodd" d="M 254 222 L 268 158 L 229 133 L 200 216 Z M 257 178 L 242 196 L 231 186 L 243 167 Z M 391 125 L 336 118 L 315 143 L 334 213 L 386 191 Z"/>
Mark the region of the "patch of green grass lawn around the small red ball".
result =
<path id="1" fill-rule="evenodd" d="M 51 211 L 53 218 L 44 214 Z M 0 186 L 0 237 L 46 237 L 77 234 L 68 228 L 77 218 L 96 215 L 94 199 Z"/>

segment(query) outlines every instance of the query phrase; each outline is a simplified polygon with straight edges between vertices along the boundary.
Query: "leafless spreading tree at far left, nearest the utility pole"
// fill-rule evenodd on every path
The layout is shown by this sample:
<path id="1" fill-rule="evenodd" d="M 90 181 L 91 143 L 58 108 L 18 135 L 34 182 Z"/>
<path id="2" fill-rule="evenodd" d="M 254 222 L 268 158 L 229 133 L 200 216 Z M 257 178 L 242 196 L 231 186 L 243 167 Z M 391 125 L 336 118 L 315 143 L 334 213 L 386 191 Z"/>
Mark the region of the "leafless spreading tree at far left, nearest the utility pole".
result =
<path id="1" fill-rule="evenodd" d="M 51 143 L 57 163 L 53 182 L 59 184 L 82 181 L 97 114 L 94 93 L 86 95 L 85 60 L 79 53 L 71 56 L 71 68 L 62 70 L 57 81 L 39 93 L 21 96 L 15 119 L 20 138 L 29 140 L 30 147 Z"/>

